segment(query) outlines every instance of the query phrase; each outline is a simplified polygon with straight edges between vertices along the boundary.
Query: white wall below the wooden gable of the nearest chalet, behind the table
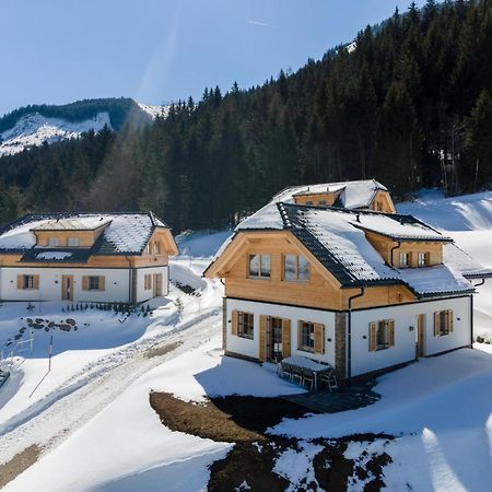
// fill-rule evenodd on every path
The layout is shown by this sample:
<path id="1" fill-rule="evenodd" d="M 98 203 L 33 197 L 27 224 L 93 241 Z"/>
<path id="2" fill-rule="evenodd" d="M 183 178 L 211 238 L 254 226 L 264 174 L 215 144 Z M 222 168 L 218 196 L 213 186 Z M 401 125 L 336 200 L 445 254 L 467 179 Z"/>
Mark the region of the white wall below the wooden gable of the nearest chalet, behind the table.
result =
<path id="1" fill-rule="evenodd" d="M 232 335 L 232 312 L 243 311 L 254 314 L 255 332 L 253 340 Z M 257 303 L 227 298 L 226 350 L 254 359 L 259 358 L 259 317 L 260 315 L 291 319 L 291 353 L 320 360 L 335 365 L 335 314 L 327 311 L 304 307 L 281 306 L 278 304 Z M 298 350 L 298 321 L 320 323 L 325 325 L 325 354 Z M 330 341 L 329 341 L 330 340 Z"/>

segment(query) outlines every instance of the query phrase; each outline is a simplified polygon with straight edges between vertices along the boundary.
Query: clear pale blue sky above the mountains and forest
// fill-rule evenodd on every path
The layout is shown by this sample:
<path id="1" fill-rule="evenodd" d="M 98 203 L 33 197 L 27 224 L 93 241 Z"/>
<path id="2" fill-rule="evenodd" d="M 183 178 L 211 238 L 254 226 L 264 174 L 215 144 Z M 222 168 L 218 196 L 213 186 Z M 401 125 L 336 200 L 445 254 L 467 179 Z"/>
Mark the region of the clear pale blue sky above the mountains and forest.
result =
<path id="1" fill-rule="evenodd" d="M 234 81 L 249 87 L 319 58 L 409 3 L 2 0 L 0 115 L 89 97 L 162 104 Z"/>

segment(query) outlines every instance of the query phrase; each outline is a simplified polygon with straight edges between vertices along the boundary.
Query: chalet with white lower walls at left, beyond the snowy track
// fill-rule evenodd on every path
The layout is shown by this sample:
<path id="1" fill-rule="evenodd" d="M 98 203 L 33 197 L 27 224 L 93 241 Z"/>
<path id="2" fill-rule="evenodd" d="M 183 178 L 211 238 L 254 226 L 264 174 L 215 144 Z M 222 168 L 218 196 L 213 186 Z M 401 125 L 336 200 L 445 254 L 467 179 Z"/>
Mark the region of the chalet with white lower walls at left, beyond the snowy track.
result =
<path id="1" fill-rule="evenodd" d="M 27 214 L 0 231 L 0 300 L 148 301 L 168 293 L 175 254 L 151 212 Z"/>

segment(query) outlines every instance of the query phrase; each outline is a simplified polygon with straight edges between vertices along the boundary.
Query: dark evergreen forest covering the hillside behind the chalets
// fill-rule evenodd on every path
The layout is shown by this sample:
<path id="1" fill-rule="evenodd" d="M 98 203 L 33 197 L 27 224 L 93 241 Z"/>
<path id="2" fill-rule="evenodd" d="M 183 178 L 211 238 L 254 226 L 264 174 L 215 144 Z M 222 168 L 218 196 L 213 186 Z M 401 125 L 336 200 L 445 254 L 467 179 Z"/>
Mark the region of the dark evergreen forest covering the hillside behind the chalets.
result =
<path id="1" fill-rule="evenodd" d="M 412 3 L 295 73 L 0 160 L 0 220 L 153 210 L 176 231 L 234 225 L 285 186 L 376 178 L 402 198 L 492 178 L 492 0 Z"/>

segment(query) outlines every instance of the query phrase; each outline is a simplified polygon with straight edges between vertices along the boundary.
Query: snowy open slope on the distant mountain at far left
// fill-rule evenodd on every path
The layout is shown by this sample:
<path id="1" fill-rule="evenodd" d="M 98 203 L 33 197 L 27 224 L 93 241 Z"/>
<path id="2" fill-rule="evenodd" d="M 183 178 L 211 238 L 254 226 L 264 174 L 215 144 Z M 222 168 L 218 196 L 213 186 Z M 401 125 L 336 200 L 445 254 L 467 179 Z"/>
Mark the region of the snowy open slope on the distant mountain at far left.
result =
<path id="1" fill-rule="evenodd" d="M 112 128 L 108 113 L 97 113 L 93 118 L 83 121 L 48 118 L 39 113 L 25 115 L 12 128 L 0 133 L 0 157 L 45 142 L 74 139 L 90 130 L 101 131 L 106 125 Z"/>

